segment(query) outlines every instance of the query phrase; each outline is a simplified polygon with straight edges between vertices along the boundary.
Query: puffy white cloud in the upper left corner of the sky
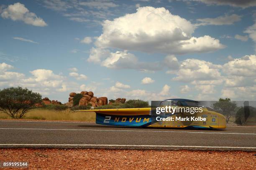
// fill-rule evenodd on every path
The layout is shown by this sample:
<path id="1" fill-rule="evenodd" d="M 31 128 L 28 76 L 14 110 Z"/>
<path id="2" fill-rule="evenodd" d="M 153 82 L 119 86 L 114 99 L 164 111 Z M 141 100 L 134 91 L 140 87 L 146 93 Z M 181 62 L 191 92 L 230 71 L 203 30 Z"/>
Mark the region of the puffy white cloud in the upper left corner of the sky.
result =
<path id="1" fill-rule="evenodd" d="M 47 24 L 44 22 L 42 18 L 36 16 L 35 13 L 29 12 L 29 10 L 25 7 L 25 5 L 17 2 L 13 5 L 9 5 L 7 8 L 3 10 L 1 13 L 3 18 L 10 18 L 14 21 L 21 20 L 26 24 L 44 27 Z"/>

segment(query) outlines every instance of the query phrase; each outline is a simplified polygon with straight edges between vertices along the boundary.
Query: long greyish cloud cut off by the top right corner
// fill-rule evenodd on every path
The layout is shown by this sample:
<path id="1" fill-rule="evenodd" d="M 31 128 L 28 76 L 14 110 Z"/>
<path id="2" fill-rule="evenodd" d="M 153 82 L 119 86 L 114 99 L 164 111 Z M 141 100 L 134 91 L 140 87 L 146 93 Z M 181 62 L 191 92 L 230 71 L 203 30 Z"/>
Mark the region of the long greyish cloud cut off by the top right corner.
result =
<path id="1" fill-rule="evenodd" d="M 229 5 L 232 7 L 242 7 L 242 8 L 256 6 L 255 0 L 194 0 L 194 1 L 203 2 L 208 5 Z"/>

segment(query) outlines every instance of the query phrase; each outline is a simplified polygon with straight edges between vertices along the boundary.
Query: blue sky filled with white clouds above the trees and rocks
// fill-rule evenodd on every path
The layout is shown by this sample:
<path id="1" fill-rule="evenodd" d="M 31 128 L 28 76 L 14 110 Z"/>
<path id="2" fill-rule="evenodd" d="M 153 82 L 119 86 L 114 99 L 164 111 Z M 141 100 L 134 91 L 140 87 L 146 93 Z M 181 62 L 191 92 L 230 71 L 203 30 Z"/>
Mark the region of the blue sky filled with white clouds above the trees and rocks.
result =
<path id="1" fill-rule="evenodd" d="M 0 88 L 256 99 L 256 2 L 2 0 Z"/>

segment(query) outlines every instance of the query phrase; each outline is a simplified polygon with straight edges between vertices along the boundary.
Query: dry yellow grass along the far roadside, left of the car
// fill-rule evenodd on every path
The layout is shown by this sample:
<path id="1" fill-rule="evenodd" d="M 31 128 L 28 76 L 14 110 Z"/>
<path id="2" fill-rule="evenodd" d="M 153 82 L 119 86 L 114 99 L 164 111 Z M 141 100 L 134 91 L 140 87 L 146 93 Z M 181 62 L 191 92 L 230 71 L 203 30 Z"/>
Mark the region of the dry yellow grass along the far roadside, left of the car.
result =
<path id="1" fill-rule="evenodd" d="M 12 119 L 5 113 L 0 112 L 0 119 Z M 22 119 L 34 119 L 34 120 L 78 120 L 95 122 L 95 112 L 74 112 L 69 109 L 47 110 L 47 109 L 33 109 L 28 111 Z"/>

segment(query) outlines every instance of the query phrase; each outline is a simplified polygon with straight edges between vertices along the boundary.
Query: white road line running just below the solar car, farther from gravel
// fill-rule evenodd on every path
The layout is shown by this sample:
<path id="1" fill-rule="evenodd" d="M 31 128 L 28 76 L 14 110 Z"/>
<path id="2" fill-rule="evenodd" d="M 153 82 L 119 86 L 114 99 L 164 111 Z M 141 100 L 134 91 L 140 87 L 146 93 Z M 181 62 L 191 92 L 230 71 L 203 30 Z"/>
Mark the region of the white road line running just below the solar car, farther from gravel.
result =
<path id="1" fill-rule="evenodd" d="M 39 128 L 0 128 L 0 130 L 81 130 L 81 131 L 117 131 L 117 132 L 169 132 L 169 133 L 201 133 L 201 134 L 232 134 L 232 135 L 256 135 L 256 133 L 221 133 L 221 132 L 191 132 L 191 131 L 164 131 L 164 130 L 102 130 L 102 129 L 39 129 Z"/>

